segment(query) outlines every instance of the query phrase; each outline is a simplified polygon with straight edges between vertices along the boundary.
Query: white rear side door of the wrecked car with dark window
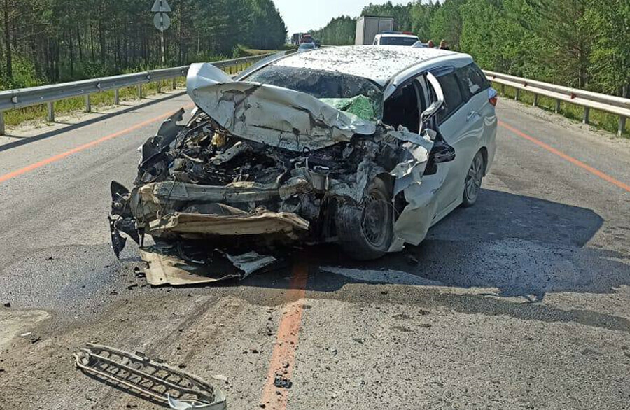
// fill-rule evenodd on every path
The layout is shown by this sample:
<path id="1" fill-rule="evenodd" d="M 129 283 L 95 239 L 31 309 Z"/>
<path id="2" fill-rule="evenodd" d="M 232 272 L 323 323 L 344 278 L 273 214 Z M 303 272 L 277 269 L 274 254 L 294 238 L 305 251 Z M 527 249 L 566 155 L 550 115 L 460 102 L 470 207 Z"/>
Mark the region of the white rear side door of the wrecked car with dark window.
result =
<path id="1" fill-rule="evenodd" d="M 437 115 L 440 134 L 455 148 L 455 160 L 440 192 L 437 219 L 461 204 L 465 176 L 472 158 L 479 149 L 483 135 L 483 118 L 468 87 L 463 82 L 462 69 L 438 70 L 434 73 L 444 92 L 444 109 Z"/>

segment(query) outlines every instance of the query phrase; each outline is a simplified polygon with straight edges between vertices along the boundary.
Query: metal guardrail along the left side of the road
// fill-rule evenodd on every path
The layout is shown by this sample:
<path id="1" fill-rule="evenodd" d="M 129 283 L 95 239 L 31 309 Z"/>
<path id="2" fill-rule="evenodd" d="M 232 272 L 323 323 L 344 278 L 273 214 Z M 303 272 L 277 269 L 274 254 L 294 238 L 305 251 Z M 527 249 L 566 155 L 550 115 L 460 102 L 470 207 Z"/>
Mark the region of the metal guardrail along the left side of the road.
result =
<path id="1" fill-rule="evenodd" d="M 213 62 L 220 69 L 236 69 L 241 71 L 249 64 L 268 57 L 269 54 L 226 59 Z M 6 134 L 4 111 L 48 104 L 48 121 L 55 121 L 54 102 L 72 97 L 85 96 L 85 111 L 91 112 L 90 94 L 114 90 L 114 104 L 120 104 L 118 90 L 125 87 L 137 87 L 138 97 L 142 97 L 142 85 L 158 82 L 158 92 L 162 91 L 162 81 L 173 80 L 173 88 L 176 88 L 176 79 L 186 77 L 190 66 L 174 67 L 172 69 L 160 69 L 144 71 L 141 73 L 123 74 L 122 76 L 94 78 L 92 80 L 74 81 L 41 87 L 23 88 L 18 90 L 0 91 L 0 135 Z"/>

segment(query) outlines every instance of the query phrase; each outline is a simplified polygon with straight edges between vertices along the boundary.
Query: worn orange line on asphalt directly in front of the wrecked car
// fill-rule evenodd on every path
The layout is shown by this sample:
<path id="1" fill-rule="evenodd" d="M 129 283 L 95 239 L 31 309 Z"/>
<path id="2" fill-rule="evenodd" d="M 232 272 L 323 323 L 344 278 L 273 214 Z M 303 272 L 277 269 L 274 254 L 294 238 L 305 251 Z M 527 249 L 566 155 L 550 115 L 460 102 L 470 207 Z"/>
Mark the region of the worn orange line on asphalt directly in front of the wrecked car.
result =
<path id="1" fill-rule="evenodd" d="M 269 362 L 267 383 L 262 391 L 261 404 L 265 409 L 286 410 L 288 389 L 276 388 L 274 379 L 280 374 L 285 379 L 290 379 L 295 366 L 295 351 L 297 339 L 302 325 L 302 299 L 306 294 L 306 285 L 309 278 L 309 266 L 304 260 L 296 262 L 293 267 L 293 278 L 289 290 L 286 293 L 288 304 L 285 306 L 278 326 L 276 344 Z"/>

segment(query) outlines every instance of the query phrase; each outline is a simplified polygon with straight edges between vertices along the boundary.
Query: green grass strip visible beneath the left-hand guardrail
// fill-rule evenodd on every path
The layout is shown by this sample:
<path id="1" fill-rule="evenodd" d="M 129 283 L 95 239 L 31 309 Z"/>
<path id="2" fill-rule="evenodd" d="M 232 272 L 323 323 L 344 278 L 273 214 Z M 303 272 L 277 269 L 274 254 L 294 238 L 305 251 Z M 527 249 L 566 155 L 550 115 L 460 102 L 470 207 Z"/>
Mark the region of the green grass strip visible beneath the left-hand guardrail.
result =
<path id="1" fill-rule="evenodd" d="M 241 64 L 238 67 L 228 67 L 225 72 L 228 74 L 235 74 L 239 71 L 246 69 L 250 64 Z M 162 92 L 172 91 L 172 80 L 165 80 L 162 83 Z M 185 78 L 177 78 L 177 88 L 183 90 L 186 87 Z M 158 83 L 148 83 L 142 85 L 142 96 L 148 97 L 158 94 Z M 136 87 L 121 88 L 118 90 L 118 97 L 120 102 L 123 101 L 136 101 L 138 99 Z M 114 105 L 114 91 L 109 90 L 105 92 L 95 92 L 90 94 L 90 103 L 92 105 L 92 111 L 99 111 L 99 108 L 110 107 Z M 78 113 L 85 111 L 85 96 L 73 97 L 69 99 L 63 99 L 55 101 L 55 116 L 59 117 L 67 115 L 69 113 Z M 18 126 L 24 122 L 32 121 L 45 121 L 47 108 L 46 104 L 37 106 L 31 106 L 27 108 L 20 108 L 18 110 L 10 110 L 4 112 L 4 120 L 8 126 Z"/>

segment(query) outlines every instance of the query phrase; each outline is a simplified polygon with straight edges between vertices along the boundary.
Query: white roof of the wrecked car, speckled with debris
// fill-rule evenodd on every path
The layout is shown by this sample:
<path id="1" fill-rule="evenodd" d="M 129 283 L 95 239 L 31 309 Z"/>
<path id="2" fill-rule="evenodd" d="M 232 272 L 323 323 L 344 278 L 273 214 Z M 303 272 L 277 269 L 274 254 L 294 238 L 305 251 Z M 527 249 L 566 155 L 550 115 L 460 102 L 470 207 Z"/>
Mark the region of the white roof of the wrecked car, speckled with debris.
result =
<path id="1" fill-rule="evenodd" d="M 402 45 L 350 45 L 316 48 L 291 54 L 269 66 L 316 69 L 344 73 L 374 81 L 383 87 L 402 71 L 417 73 L 437 66 L 461 67 L 472 57 L 461 52 Z"/>

